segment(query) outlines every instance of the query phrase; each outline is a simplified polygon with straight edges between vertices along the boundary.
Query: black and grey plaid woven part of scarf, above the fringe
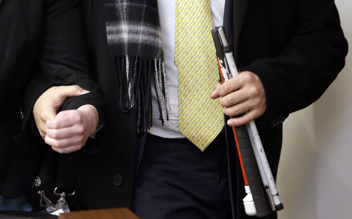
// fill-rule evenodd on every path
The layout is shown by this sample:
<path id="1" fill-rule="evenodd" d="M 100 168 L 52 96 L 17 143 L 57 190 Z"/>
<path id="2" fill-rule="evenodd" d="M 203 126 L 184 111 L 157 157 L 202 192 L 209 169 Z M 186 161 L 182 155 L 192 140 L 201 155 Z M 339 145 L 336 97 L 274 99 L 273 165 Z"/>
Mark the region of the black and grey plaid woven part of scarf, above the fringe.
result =
<path id="1" fill-rule="evenodd" d="M 163 60 L 162 33 L 155 0 L 107 0 L 106 32 L 114 56 Z"/>

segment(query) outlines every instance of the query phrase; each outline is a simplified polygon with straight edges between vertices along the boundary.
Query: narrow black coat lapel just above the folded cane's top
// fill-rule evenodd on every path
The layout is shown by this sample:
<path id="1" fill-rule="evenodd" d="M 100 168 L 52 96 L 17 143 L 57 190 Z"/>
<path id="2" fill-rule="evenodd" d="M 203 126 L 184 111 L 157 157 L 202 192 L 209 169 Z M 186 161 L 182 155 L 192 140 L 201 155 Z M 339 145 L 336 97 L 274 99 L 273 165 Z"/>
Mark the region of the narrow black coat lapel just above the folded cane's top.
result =
<path id="1" fill-rule="evenodd" d="M 233 0 L 233 57 L 237 61 L 238 38 L 250 0 Z"/>

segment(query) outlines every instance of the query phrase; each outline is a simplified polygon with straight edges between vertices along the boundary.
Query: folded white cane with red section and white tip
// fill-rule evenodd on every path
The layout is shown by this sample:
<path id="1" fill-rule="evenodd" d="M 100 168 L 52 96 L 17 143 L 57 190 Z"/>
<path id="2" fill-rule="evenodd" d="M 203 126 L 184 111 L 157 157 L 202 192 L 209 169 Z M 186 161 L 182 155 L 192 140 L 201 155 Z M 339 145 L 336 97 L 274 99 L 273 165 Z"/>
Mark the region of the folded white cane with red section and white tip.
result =
<path id="1" fill-rule="evenodd" d="M 236 68 L 236 65 L 235 65 L 235 62 L 233 59 L 231 46 L 228 45 L 228 43 L 227 43 L 224 27 L 223 26 L 215 27 L 212 30 L 212 35 L 213 35 L 214 44 L 215 44 L 215 48 L 216 48 L 216 55 L 218 56 L 220 76 L 221 76 L 222 81 L 224 82 L 224 81 L 231 79 L 232 77 L 237 76 L 238 71 L 237 71 L 237 68 Z M 276 189 L 274 177 L 272 176 L 271 169 L 269 167 L 269 163 L 266 158 L 265 151 L 263 149 L 263 145 L 260 140 L 258 130 L 257 130 L 256 124 L 254 123 L 254 121 L 251 121 L 249 124 L 246 124 L 246 129 L 248 132 L 248 138 L 250 139 L 250 143 L 251 143 L 252 149 L 253 149 L 252 154 L 254 154 L 256 163 L 258 165 L 260 178 L 262 179 L 261 181 L 263 182 L 265 191 L 268 195 L 270 209 L 272 211 L 281 210 L 281 209 L 283 209 L 283 205 L 280 201 L 280 198 L 279 198 L 279 195 L 278 195 L 278 192 Z M 237 130 L 237 128 L 236 128 L 236 130 Z M 233 128 L 233 131 L 234 131 L 234 136 L 236 139 L 236 133 L 235 133 L 234 128 Z M 236 141 L 236 143 L 237 143 L 237 141 Z M 241 145 L 237 145 L 237 148 L 241 148 Z M 239 152 L 239 156 L 240 156 L 240 152 Z M 241 163 L 241 161 L 240 161 L 240 163 Z M 242 164 L 241 164 L 241 167 L 242 167 Z M 244 170 L 243 170 L 243 172 L 244 172 Z M 251 171 L 251 173 L 252 172 L 253 171 Z M 254 172 L 256 172 L 256 171 L 254 171 Z M 256 175 L 256 174 L 254 174 L 254 175 Z M 247 175 L 247 177 L 249 177 L 249 176 Z M 250 178 L 252 178 L 252 177 L 250 177 Z M 256 177 L 254 176 L 254 178 L 256 178 Z M 254 180 L 258 180 L 258 179 L 254 179 Z M 255 182 L 254 182 L 254 184 L 255 184 Z M 247 192 L 247 190 L 250 190 L 250 189 L 247 189 L 246 186 L 245 186 L 245 189 Z M 251 190 L 253 190 L 253 188 Z M 257 188 L 255 190 L 257 190 Z M 253 192 L 254 191 L 252 191 L 252 193 Z M 256 192 L 256 193 L 258 193 L 258 192 Z M 258 195 L 260 195 L 260 192 L 258 193 Z M 247 213 L 246 208 L 248 208 L 248 207 L 246 207 L 247 196 L 244 199 L 246 213 Z M 260 200 L 262 200 L 262 198 L 259 198 L 259 200 L 256 200 L 256 198 L 254 197 L 254 194 L 253 194 L 254 205 L 257 208 L 256 215 L 258 217 L 263 217 L 263 216 L 267 215 L 266 208 L 262 206 L 263 202 L 260 201 Z M 268 204 L 266 204 L 266 205 L 268 205 Z M 260 209 L 258 209 L 258 207 Z M 250 213 L 250 210 L 247 214 L 249 214 L 249 213 Z M 253 215 L 253 214 L 251 214 L 251 215 Z"/>

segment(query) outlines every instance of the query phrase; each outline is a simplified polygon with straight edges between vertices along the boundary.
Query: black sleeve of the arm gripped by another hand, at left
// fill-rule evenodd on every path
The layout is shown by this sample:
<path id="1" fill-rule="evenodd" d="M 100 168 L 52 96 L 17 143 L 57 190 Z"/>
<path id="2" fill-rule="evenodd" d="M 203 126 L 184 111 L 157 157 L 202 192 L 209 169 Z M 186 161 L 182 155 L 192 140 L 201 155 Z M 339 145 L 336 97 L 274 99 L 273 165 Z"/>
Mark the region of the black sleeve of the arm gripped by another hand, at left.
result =
<path id="1" fill-rule="evenodd" d="M 86 43 L 78 0 L 50 0 L 44 4 L 42 44 L 39 51 L 39 72 L 28 83 L 24 99 L 24 122 L 28 127 L 32 119 L 33 105 L 38 97 L 51 86 L 78 85 L 90 93 L 69 98 L 62 110 L 77 109 L 80 106 L 93 105 L 104 124 L 103 100 L 101 91 L 89 75 Z M 33 123 L 33 120 L 32 120 Z M 33 127 L 33 126 L 32 126 Z M 96 145 L 87 142 L 86 152 L 97 152 L 105 139 L 105 132 L 97 133 Z M 92 147 L 90 147 L 92 145 Z"/>

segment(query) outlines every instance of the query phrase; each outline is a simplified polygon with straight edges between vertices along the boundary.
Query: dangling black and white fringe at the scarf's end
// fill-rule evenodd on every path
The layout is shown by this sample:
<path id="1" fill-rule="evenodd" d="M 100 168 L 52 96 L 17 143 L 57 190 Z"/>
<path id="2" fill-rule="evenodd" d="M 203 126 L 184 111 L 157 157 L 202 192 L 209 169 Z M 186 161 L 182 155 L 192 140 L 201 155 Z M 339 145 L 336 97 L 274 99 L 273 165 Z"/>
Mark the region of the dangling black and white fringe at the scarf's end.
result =
<path id="1" fill-rule="evenodd" d="M 164 118 L 169 120 L 170 111 L 164 62 L 126 55 L 115 57 L 114 63 L 120 86 L 119 106 L 124 112 L 137 107 L 137 133 L 152 127 L 151 80 L 157 96 L 159 120 L 164 125 Z"/>

